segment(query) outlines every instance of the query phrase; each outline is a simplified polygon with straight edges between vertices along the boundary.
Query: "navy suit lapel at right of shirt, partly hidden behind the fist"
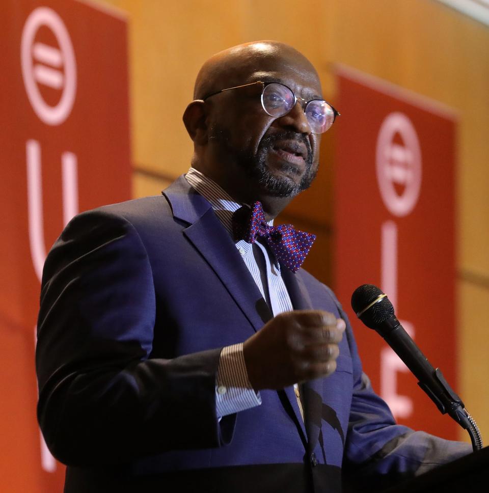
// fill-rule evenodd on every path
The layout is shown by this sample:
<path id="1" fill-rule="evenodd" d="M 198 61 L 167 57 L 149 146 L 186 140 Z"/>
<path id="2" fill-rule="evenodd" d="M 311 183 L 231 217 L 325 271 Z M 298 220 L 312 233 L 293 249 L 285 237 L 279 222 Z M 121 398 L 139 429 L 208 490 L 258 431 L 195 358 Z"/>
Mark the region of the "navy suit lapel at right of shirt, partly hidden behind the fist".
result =
<path id="1" fill-rule="evenodd" d="M 311 310 L 312 302 L 300 271 L 296 274 L 289 269 L 282 270 L 282 277 L 295 310 Z M 321 429 L 322 379 L 309 380 L 301 386 L 304 405 L 304 421 L 309 452 L 314 450 Z M 293 399 L 295 394 L 292 392 Z M 292 397 L 290 397 L 292 398 Z"/>

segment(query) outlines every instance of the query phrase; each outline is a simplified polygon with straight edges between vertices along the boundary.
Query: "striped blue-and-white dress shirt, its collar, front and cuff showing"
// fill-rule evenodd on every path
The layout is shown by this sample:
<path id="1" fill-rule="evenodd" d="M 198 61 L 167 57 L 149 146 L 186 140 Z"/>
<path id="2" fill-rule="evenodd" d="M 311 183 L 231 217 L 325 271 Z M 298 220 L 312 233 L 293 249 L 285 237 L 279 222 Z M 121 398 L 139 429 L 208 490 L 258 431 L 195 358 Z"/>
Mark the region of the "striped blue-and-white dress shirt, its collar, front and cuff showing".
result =
<path id="1" fill-rule="evenodd" d="M 200 195 L 209 201 L 215 215 L 233 238 L 232 216 L 243 204 L 235 202 L 218 184 L 195 168 L 190 168 L 185 178 Z M 271 224 L 273 221 L 269 222 L 269 225 Z M 239 240 L 235 244 L 274 316 L 293 310 L 280 272 L 280 264 L 276 261 L 273 253 L 269 252 L 258 241 L 247 243 L 244 240 Z M 301 414 L 303 414 L 296 385 L 294 389 Z M 248 378 L 242 343 L 223 348 L 216 377 L 215 392 L 216 412 L 220 417 L 261 404 L 260 395 L 253 390 Z"/>

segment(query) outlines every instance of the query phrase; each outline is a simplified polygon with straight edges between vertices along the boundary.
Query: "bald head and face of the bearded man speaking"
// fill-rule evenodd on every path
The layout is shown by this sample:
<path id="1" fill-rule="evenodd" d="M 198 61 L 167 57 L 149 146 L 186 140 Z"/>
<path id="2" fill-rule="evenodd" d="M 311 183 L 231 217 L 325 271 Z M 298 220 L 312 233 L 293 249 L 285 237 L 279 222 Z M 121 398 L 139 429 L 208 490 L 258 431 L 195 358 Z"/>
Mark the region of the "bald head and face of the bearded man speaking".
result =
<path id="1" fill-rule="evenodd" d="M 280 105 L 278 86 L 296 99 L 274 116 L 262 101 L 269 88 L 269 109 Z M 192 166 L 237 202 L 259 200 L 274 217 L 314 179 L 320 135 L 312 132 L 303 103 L 322 99 L 316 70 L 289 45 L 255 41 L 216 53 L 202 66 L 183 114 L 194 141 Z"/>

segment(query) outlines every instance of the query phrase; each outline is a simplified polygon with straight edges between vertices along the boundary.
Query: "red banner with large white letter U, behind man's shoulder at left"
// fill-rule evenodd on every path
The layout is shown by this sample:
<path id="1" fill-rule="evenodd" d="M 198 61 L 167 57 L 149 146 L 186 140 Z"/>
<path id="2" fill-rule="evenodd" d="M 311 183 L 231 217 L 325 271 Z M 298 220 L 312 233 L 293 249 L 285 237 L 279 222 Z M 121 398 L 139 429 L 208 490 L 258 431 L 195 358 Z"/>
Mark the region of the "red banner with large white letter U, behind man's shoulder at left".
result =
<path id="1" fill-rule="evenodd" d="M 7 0 L 0 31 L 0 482 L 62 491 L 36 423 L 42 265 L 79 211 L 130 197 L 127 24 L 74 0 Z"/>

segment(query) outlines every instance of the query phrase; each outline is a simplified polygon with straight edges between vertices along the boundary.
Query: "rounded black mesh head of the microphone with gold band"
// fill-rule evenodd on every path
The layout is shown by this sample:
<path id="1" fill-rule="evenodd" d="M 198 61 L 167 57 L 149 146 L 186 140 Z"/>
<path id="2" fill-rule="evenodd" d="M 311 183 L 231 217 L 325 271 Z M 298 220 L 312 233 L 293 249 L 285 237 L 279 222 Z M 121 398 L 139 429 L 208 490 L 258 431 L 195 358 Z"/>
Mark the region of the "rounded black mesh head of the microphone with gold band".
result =
<path id="1" fill-rule="evenodd" d="M 394 316 L 389 298 L 373 284 L 362 284 L 353 292 L 351 308 L 367 327 L 373 329 Z"/>

